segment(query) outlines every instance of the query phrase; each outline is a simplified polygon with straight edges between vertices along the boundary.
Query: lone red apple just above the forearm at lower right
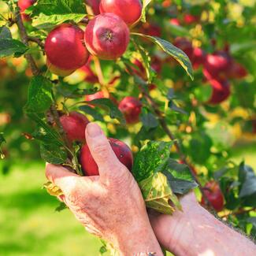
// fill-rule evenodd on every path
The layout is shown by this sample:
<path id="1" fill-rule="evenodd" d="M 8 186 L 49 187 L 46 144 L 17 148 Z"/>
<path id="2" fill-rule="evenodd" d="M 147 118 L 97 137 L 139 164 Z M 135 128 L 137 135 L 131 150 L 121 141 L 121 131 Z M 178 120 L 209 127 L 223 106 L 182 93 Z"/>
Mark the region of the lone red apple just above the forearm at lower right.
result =
<path id="1" fill-rule="evenodd" d="M 216 181 L 210 181 L 203 187 L 206 198 L 213 206 L 214 210 L 220 212 L 224 208 L 224 196 L 221 192 L 221 188 Z M 202 197 L 202 206 L 206 206 L 206 202 Z"/>

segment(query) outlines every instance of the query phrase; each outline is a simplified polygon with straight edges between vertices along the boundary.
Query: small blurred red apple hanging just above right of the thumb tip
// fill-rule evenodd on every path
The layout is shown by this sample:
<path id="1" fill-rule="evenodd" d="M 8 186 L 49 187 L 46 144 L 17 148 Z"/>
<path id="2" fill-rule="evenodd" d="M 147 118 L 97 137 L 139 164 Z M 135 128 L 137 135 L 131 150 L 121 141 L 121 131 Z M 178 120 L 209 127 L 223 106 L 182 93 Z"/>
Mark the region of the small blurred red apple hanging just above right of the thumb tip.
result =
<path id="1" fill-rule="evenodd" d="M 118 108 L 124 113 L 124 117 L 128 124 L 136 124 L 139 122 L 142 103 L 138 98 L 127 96 L 121 100 Z"/>

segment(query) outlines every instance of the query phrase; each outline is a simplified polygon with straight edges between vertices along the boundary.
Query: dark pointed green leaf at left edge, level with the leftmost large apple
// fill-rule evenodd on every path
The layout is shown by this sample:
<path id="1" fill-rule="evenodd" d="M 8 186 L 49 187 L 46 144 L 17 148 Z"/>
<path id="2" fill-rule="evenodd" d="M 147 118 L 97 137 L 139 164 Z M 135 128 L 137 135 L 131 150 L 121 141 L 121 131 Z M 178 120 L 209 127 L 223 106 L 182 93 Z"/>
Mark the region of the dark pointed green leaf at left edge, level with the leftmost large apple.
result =
<path id="1" fill-rule="evenodd" d="M 28 50 L 28 47 L 21 43 L 19 40 L 11 38 L 0 38 L 0 58 L 14 55 L 20 57 Z"/>

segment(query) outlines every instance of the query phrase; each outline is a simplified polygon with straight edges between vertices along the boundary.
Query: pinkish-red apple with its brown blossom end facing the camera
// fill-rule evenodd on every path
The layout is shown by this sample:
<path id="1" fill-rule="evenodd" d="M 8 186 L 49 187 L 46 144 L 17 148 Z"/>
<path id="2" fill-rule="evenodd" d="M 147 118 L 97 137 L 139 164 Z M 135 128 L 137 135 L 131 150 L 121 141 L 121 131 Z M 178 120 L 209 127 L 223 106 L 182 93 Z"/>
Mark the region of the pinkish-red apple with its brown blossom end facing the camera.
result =
<path id="1" fill-rule="evenodd" d="M 103 13 L 89 21 L 84 39 L 91 54 L 115 60 L 124 54 L 130 35 L 124 20 L 114 13 Z"/>

